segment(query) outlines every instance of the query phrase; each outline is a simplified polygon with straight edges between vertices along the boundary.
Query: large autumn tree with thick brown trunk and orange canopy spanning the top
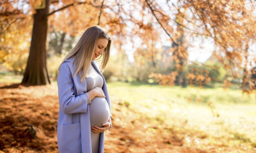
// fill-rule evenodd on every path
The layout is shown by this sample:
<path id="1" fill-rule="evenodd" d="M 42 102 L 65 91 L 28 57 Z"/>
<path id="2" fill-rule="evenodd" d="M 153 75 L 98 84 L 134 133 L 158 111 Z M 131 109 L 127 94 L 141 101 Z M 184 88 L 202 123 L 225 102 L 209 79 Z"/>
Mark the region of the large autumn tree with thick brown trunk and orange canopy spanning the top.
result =
<path id="1" fill-rule="evenodd" d="M 6 2 L 13 4 L 16 1 Z M 239 67 L 248 70 L 255 62 L 252 48 L 246 48 L 247 44 L 252 46 L 255 43 L 255 2 L 252 1 L 42 0 L 42 4 L 45 2 L 43 9 L 36 9 L 34 0 L 22 2 L 29 4 L 29 12 L 33 12 L 34 18 L 30 54 L 22 83 L 50 83 L 45 64 L 48 25 L 57 31 L 80 35 L 89 26 L 98 24 L 111 33 L 114 45 L 122 52 L 125 50 L 122 46 L 128 42 L 134 49 L 146 45 L 150 53 L 145 57 L 149 57 L 153 66 L 158 52 L 156 44 L 166 41 L 174 47 L 170 52 L 186 61 L 186 56 L 189 56 L 184 52 L 187 46 L 180 44 L 183 33 L 190 39 L 213 39 L 214 55 L 227 69 Z M 251 58 L 246 59 L 246 56 Z M 247 72 L 245 75 L 251 75 L 251 71 Z M 165 83 L 171 85 L 175 75 L 176 72 L 166 75 Z"/>

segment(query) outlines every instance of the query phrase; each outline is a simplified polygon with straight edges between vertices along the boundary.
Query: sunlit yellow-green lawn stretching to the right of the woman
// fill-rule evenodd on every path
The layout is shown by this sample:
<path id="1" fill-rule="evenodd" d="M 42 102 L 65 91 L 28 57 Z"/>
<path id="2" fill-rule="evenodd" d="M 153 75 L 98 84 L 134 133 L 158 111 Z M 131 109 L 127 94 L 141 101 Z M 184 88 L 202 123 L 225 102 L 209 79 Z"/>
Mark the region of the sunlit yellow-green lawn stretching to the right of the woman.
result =
<path id="1" fill-rule="evenodd" d="M 114 103 L 128 103 L 130 109 L 152 122 L 203 131 L 209 137 L 225 137 L 229 143 L 248 142 L 251 147 L 256 144 L 253 94 L 247 96 L 241 90 L 221 87 L 200 89 L 123 82 L 107 85 Z"/>

